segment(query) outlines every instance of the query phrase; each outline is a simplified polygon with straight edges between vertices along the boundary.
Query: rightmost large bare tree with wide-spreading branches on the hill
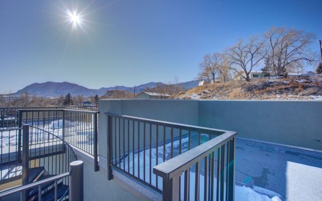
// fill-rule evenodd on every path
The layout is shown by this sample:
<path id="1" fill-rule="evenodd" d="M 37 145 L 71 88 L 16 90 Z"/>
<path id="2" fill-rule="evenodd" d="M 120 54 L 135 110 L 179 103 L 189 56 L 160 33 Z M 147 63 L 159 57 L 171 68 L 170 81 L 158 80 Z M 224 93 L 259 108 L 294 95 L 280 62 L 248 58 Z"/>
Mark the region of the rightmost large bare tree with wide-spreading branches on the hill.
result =
<path id="1" fill-rule="evenodd" d="M 277 75 L 285 76 L 288 69 L 303 67 L 303 62 L 312 62 L 315 53 L 310 45 L 315 35 L 302 30 L 273 27 L 264 34 L 270 48 L 273 70 Z"/>

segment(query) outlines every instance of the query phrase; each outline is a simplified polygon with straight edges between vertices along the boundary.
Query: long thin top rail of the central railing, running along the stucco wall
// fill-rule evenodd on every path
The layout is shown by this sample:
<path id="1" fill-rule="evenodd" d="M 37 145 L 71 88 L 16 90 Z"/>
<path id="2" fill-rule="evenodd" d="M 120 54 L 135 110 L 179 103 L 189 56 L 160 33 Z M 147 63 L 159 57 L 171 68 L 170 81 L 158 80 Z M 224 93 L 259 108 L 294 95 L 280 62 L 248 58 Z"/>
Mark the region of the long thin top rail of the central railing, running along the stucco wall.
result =
<path id="1" fill-rule="evenodd" d="M 232 132 L 232 131 L 213 129 L 213 128 L 207 128 L 207 127 L 201 127 L 201 126 L 192 126 L 192 125 L 187 125 L 187 124 L 179 124 L 179 123 L 159 121 L 159 120 L 140 118 L 140 117 L 133 117 L 133 116 L 127 116 L 127 115 L 118 115 L 118 114 L 114 114 L 114 113 L 104 113 L 104 114 L 112 116 L 112 117 L 118 117 L 118 118 L 127 119 L 127 120 L 135 120 L 137 122 L 145 122 L 145 123 L 148 123 L 148 124 L 155 124 L 155 125 L 158 125 L 158 126 L 172 127 L 172 128 L 175 128 L 175 129 L 189 130 L 189 131 L 194 131 L 194 132 L 204 133 L 204 134 L 210 134 L 210 135 L 221 135 L 221 134 L 224 134 L 224 133 L 227 133 L 227 132 Z"/>

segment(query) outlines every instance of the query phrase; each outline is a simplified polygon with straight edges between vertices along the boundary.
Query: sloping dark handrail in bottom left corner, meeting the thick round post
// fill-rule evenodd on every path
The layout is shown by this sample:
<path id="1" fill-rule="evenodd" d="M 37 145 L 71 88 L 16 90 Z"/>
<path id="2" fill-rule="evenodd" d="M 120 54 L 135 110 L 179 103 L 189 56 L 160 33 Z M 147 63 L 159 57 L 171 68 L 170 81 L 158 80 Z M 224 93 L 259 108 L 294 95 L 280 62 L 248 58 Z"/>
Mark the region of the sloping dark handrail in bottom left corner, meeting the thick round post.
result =
<path id="1" fill-rule="evenodd" d="M 42 185 L 42 184 L 50 183 L 52 181 L 59 180 L 61 178 L 67 177 L 69 175 L 70 175 L 70 172 L 65 172 L 65 173 L 62 173 L 62 174 L 59 174 L 59 175 L 56 175 L 56 176 L 52 176 L 52 177 L 47 178 L 47 179 L 43 179 L 41 181 L 35 181 L 33 183 L 30 183 L 30 184 L 27 184 L 27 185 L 23 185 L 23 186 L 20 186 L 20 187 L 17 187 L 17 188 L 8 190 L 6 192 L 0 193 L 0 198 L 2 198 L 4 196 L 7 196 L 9 194 L 12 194 L 12 193 L 25 191 L 25 190 L 28 190 L 30 188 L 37 187 L 37 186 Z"/>

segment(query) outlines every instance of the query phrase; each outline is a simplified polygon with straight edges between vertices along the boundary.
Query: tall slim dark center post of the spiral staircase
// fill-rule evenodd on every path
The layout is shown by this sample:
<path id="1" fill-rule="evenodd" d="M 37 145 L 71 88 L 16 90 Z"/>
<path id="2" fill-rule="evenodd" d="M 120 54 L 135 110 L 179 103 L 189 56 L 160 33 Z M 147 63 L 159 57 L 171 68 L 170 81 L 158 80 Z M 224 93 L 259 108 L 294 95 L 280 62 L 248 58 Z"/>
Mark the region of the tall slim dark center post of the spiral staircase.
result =
<path id="1" fill-rule="evenodd" d="M 29 125 L 22 126 L 23 145 L 22 145 L 22 185 L 29 183 Z M 21 200 L 28 200 L 28 190 L 22 192 Z"/>

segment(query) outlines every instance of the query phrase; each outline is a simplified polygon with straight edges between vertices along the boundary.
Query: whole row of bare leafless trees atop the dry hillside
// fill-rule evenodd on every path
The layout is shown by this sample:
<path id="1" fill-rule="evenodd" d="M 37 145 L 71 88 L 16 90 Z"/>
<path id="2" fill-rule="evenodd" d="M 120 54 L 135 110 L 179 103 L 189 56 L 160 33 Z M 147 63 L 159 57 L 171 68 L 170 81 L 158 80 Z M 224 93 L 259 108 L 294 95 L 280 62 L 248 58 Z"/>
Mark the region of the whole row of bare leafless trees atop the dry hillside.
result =
<path id="1" fill-rule="evenodd" d="M 238 73 L 250 81 L 251 71 L 260 65 L 266 74 L 286 76 L 317 60 L 317 52 L 312 49 L 315 40 L 314 34 L 303 30 L 273 27 L 262 35 L 239 39 L 222 52 L 205 55 L 198 77 L 226 82 Z"/>

